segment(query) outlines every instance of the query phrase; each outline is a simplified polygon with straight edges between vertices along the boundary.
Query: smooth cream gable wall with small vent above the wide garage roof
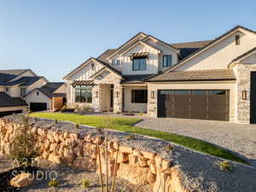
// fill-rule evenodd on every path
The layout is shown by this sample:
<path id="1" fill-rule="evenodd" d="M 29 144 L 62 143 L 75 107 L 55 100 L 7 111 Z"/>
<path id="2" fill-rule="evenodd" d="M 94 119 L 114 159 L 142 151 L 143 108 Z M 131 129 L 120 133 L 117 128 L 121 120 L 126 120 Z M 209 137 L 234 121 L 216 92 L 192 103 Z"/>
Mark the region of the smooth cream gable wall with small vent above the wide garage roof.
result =
<path id="1" fill-rule="evenodd" d="M 240 45 L 236 45 L 236 35 L 240 35 Z M 237 56 L 244 54 L 255 46 L 255 34 L 253 35 L 249 32 L 235 32 L 174 70 L 183 71 L 227 68 L 230 62 Z"/>

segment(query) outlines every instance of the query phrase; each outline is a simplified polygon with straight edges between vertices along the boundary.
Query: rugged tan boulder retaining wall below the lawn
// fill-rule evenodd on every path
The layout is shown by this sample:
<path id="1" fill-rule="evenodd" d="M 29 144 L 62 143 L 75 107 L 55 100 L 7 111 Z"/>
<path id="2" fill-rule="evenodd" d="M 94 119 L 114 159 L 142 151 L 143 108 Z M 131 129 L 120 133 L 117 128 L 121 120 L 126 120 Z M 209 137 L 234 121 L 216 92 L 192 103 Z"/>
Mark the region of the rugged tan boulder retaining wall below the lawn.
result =
<path id="1" fill-rule="evenodd" d="M 0 154 L 9 154 L 15 139 L 15 131 L 21 126 L 20 115 L 0 119 Z M 99 172 L 99 153 L 102 156 L 102 171 L 105 171 L 104 133 L 96 128 L 54 120 L 30 118 L 30 131 L 37 135 L 41 157 L 55 163 L 65 163 L 84 170 Z M 172 162 L 172 150 L 166 149 L 163 141 L 109 131 L 108 170 L 109 176 L 117 175 L 130 183 L 150 184 L 154 192 L 189 192 L 185 189 L 179 168 Z M 99 151 L 97 150 L 99 146 Z M 114 161 L 118 153 L 118 166 Z"/>

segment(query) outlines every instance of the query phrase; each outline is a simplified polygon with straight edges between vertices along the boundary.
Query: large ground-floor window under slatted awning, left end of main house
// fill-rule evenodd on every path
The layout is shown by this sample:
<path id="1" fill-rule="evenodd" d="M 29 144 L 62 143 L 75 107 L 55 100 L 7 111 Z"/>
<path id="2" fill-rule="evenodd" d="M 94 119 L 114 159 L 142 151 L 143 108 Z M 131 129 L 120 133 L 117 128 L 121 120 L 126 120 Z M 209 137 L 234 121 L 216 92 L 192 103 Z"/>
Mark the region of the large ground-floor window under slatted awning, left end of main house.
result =
<path id="1" fill-rule="evenodd" d="M 75 102 L 92 102 L 92 86 L 79 85 L 75 87 Z"/>

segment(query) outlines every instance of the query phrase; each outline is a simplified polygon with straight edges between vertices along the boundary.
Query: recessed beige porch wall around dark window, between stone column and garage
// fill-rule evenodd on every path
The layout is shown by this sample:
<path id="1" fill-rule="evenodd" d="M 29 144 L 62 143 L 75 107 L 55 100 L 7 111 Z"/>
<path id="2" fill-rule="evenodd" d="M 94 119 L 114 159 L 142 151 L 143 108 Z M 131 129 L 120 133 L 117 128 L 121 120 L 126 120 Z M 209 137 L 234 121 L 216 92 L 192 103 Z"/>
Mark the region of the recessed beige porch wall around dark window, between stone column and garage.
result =
<path id="1" fill-rule="evenodd" d="M 125 111 L 147 112 L 147 103 L 131 102 L 131 90 L 147 90 L 147 86 L 127 86 L 125 85 Z"/>

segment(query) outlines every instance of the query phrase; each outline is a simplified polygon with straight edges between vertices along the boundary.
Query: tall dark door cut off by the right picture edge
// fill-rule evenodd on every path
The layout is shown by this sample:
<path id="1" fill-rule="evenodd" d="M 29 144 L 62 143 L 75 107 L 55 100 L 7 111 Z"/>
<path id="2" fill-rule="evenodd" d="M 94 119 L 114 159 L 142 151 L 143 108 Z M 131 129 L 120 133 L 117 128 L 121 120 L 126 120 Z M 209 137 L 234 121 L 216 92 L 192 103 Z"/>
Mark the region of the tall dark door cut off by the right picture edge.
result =
<path id="1" fill-rule="evenodd" d="M 251 72 L 250 121 L 256 124 L 256 72 Z"/>

